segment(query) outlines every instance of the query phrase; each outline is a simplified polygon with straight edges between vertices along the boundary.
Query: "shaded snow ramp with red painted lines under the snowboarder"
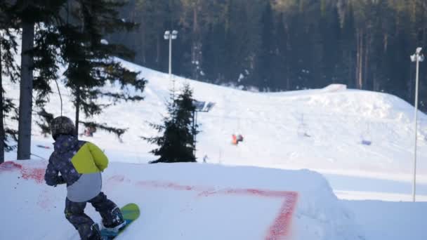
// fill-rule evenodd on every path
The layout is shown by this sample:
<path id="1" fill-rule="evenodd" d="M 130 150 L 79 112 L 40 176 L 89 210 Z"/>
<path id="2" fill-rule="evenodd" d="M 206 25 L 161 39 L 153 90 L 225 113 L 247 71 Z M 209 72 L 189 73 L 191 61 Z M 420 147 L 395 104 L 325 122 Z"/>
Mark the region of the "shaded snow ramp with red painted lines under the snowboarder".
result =
<path id="1" fill-rule="evenodd" d="M 46 164 L 0 165 L 0 239 L 79 239 L 63 213 L 65 187 L 44 184 Z M 353 214 L 313 171 L 112 163 L 103 192 L 119 206 L 141 208 L 118 239 L 364 239 Z M 100 221 L 90 204 L 86 213 Z"/>

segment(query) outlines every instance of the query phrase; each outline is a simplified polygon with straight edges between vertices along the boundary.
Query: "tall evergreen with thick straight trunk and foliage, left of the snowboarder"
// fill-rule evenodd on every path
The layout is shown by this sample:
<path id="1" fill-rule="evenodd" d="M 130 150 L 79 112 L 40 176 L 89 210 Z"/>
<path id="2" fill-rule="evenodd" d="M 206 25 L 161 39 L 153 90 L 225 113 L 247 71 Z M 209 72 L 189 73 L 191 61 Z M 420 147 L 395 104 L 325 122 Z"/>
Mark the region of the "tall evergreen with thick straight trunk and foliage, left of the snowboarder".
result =
<path id="1" fill-rule="evenodd" d="M 33 88 L 37 90 L 36 103 L 43 105 L 50 91 L 48 81 L 57 78 L 55 48 L 50 48 L 51 34 L 46 32 L 51 31 L 50 25 L 58 23 L 64 3 L 65 0 L 20 0 L 13 1 L 8 9 L 13 21 L 20 23 L 14 27 L 22 28 L 18 159 L 29 159 L 31 154 Z"/>

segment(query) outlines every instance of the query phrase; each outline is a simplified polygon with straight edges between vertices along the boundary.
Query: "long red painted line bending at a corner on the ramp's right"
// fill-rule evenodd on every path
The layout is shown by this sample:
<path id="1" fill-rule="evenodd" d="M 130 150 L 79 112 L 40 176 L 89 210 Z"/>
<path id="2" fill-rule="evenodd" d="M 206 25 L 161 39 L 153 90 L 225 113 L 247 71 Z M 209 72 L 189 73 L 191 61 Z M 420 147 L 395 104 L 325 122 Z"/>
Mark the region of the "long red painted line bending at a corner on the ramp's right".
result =
<path id="1" fill-rule="evenodd" d="M 213 187 L 201 187 L 190 185 L 179 185 L 174 182 L 160 181 L 140 181 L 137 185 L 141 187 L 155 187 L 173 190 L 196 191 L 198 196 L 212 196 L 216 194 L 233 194 L 233 195 L 249 195 L 258 197 L 284 199 L 280 212 L 268 228 L 268 233 L 265 240 L 280 240 L 289 236 L 292 223 L 292 215 L 294 213 L 296 202 L 298 201 L 298 192 L 289 191 L 272 191 L 265 189 L 220 189 L 216 190 Z"/>

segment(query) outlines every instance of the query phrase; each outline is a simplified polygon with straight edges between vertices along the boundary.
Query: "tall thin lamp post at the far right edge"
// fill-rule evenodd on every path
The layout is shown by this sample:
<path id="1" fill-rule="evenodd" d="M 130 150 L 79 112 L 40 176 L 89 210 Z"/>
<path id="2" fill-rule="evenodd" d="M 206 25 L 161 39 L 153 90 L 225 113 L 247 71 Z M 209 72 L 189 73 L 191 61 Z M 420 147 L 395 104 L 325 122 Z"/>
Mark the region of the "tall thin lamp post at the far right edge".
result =
<path id="1" fill-rule="evenodd" d="M 414 145 L 414 178 L 412 180 L 412 201 L 415 201 L 416 192 L 416 137 L 417 137 L 417 120 L 418 120 L 418 80 L 419 80 L 419 62 L 424 60 L 421 54 L 422 48 L 416 48 L 415 54 L 411 55 L 412 62 L 416 62 L 416 80 L 415 80 L 415 113 L 414 113 L 414 132 L 415 132 L 415 145 Z"/>

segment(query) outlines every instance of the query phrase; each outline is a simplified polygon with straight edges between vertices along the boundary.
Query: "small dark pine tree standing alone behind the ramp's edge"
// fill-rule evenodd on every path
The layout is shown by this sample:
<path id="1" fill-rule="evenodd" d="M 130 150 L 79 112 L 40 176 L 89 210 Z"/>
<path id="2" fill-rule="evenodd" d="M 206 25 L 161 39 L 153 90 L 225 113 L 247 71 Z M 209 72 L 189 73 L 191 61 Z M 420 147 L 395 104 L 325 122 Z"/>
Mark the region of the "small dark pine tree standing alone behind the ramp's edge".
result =
<path id="1" fill-rule="evenodd" d="M 195 106 L 193 105 L 192 90 L 185 84 L 182 93 L 176 99 L 166 102 L 169 116 L 164 118 L 163 125 L 151 124 L 162 136 L 143 138 L 154 143 L 159 148 L 151 152 L 159 159 L 152 163 L 195 162 L 195 135 L 197 126 L 194 125 Z"/>

